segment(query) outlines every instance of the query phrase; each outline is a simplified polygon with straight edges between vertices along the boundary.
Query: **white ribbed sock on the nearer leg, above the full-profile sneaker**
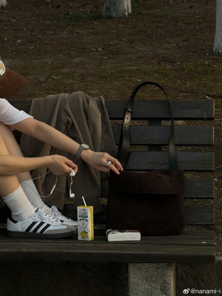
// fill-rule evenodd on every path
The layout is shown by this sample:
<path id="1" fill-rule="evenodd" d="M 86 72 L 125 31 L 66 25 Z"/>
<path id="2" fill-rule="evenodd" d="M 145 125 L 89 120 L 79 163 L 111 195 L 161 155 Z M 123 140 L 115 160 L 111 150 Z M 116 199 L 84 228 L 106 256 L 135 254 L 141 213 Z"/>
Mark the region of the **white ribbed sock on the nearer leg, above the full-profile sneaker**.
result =
<path id="1" fill-rule="evenodd" d="M 16 220 L 25 220 L 36 210 L 28 200 L 21 185 L 7 196 L 2 196 L 2 198 Z"/>

